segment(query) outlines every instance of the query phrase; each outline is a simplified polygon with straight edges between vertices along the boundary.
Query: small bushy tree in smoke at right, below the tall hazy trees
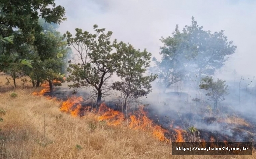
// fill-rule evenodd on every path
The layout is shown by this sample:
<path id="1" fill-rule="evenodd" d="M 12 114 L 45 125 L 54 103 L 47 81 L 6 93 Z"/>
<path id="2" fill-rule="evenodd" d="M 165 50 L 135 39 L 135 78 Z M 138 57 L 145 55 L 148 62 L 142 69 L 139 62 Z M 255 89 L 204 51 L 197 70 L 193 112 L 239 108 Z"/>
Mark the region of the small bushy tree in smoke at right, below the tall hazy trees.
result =
<path id="1" fill-rule="evenodd" d="M 206 96 L 209 96 L 211 100 L 214 101 L 214 109 L 217 109 L 218 103 L 225 100 L 225 95 L 229 94 L 227 93 L 228 85 L 226 85 L 225 82 L 226 81 L 219 79 L 217 79 L 217 81 L 213 81 L 212 77 L 206 76 L 205 78 L 202 78 L 199 85 L 200 89 L 209 91 L 206 93 Z"/>

